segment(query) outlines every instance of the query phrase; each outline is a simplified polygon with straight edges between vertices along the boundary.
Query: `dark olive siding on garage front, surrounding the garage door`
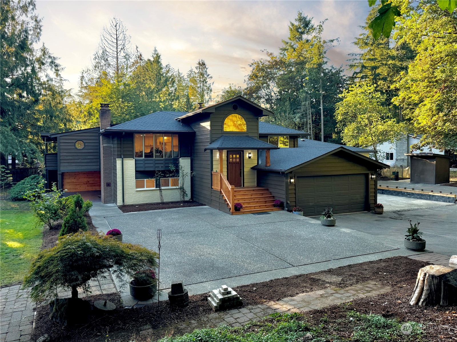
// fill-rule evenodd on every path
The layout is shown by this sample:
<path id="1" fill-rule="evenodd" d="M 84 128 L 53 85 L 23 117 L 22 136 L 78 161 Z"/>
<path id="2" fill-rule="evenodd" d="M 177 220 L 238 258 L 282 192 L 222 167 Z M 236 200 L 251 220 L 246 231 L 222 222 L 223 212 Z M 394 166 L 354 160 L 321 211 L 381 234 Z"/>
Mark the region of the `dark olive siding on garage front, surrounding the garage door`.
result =
<path id="1" fill-rule="evenodd" d="M 370 174 L 376 174 L 377 170 L 369 169 L 367 166 L 357 162 L 357 158 L 345 153 L 337 152 L 333 155 L 328 155 L 324 158 L 320 158 L 313 163 L 303 166 L 299 169 L 294 170 L 290 176 L 293 176 L 296 180 L 294 185 L 289 185 L 289 199 L 290 206 L 297 205 L 297 180 L 298 177 L 303 176 L 326 176 L 326 175 L 356 175 L 364 174 L 365 184 L 367 189 L 367 205 L 366 210 L 374 210 L 374 205 L 377 201 L 377 186 L 376 180 L 372 180 Z M 356 187 L 354 187 L 356 189 Z M 354 190 L 357 192 L 359 190 Z"/>

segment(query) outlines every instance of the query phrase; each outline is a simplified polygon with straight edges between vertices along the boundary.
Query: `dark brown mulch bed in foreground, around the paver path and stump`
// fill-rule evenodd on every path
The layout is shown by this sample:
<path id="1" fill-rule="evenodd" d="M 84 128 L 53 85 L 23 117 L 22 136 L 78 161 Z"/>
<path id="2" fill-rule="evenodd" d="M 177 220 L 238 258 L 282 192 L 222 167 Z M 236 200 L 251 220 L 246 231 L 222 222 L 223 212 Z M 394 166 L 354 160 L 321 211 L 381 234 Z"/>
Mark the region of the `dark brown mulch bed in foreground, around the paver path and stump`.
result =
<path id="1" fill-rule="evenodd" d="M 425 265 L 427 263 L 420 260 L 393 257 L 328 269 L 313 274 L 294 275 L 288 278 L 239 286 L 234 290 L 243 297 L 244 306 L 247 306 L 264 304 L 268 301 L 276 301 L 303 292 L 321 290 L 329 286 L 345 288 L 367 280 L 374 280 L 391 286 L 392 291 L 383 295 L 358 299 L 349 305 L 344 304 L 309 311 L 305 316 L 310 321 L 320 324 L 322 323 L 320 319 L 324 318 L 325 315 L 331 322 L 345 317 L 348 310 L 356 310 L 361 313 L 378 313 L 402 321 L 416 321 L 425 324 L 431 322 L 455 328 L 457 307 L 417 307 L 408 304 L 417 272 Z M 332 284 L 314 278 L 314 275 L 317 274 L 338 275 L 342 277 L 342 280 L 340 284 Z M 165 334 L 170 334 L 170 332 L 180 334 L 179 325 L 186 320 L 196 320 L 212 313 L 206 298 L 206 294 L 193 295 L 189 298 L 189 307 L 179 310 L 170 309 L 168 301 L 160 302 L 159 307 L 155 304 L 141 308 L 122 309 L 119 308 L 122 305 L 118 294 L 94 295 L 87 299 L 92 303 L 96 300 L 107 299 L 115 303 L 118 308 L 110 316 L 94 313 L 90 323 L 72 327 L 60 326 L 50 321 L 48 306 L 42 306 L 37 309 L 36 328 L 33 331 L 32 340 L 48 333 L 53 341 L 105 341 L 108 332 L 111 341 L 129 341 L 132 336 L 137 336 L 136 341 L 145 341 L 147 340 L 145 337 L 138 337 L 139 332 L 151 327 L 154 329 L 152 340 L 157 340 L 164 337 Z M 427 329 L 424 341 L 451 341 L 448 339 L 449 336 L 451 336 L 449 332 L 443 332 L 442 329 Z"/>

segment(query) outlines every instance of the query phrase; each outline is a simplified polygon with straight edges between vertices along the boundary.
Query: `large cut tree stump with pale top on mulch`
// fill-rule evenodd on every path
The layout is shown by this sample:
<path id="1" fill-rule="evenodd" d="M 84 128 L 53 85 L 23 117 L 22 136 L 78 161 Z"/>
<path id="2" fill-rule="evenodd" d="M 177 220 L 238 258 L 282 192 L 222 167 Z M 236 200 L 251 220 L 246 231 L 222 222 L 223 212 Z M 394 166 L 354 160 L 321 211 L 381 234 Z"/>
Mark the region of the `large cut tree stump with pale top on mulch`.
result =
<path id="1" fill-rule="evenodd" d="M 457 304 L 457 269 L 440 265 L 428 265 L 419 270 L 411 305 Z"/>

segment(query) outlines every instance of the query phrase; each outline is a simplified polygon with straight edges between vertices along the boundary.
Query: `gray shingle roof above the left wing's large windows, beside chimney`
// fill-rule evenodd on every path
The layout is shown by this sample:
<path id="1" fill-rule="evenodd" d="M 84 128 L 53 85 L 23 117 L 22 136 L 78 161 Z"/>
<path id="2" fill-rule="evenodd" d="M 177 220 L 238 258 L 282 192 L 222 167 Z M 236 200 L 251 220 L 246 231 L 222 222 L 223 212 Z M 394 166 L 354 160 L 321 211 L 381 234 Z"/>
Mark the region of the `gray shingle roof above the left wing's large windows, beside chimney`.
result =
<path id="1" fill-rule="evenodd" d="M 133 119 L 116 126 L 108 127 L 106 132 L 113 131 L 141 131 L 141 132 L 194 132 L 188 124 L 181 124 L 175 120 L 186 112 L 159 111 Z"/>

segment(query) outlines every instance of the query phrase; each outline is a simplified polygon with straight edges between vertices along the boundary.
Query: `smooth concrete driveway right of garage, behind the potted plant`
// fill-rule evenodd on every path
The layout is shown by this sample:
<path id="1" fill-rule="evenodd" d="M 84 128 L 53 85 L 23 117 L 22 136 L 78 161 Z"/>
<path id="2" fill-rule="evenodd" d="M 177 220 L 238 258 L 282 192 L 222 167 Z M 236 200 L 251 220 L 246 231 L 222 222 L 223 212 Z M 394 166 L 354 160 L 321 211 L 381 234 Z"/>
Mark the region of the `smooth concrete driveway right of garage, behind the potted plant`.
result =
<path id="1" fill-rule="evenodd" d="M 427 250 L 448 256 L 457 254 L 457 205 L 379 194 L 378 202 L 384 205 L 383 215 L 373 212 L 335 215 L 335 227 L 344 232 L 369 234 L 382 238 L 386 244 L 401 246 L 410 219 L 413 224 L 420 222 Z"/>

